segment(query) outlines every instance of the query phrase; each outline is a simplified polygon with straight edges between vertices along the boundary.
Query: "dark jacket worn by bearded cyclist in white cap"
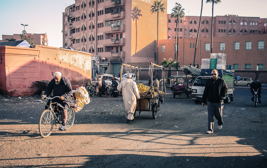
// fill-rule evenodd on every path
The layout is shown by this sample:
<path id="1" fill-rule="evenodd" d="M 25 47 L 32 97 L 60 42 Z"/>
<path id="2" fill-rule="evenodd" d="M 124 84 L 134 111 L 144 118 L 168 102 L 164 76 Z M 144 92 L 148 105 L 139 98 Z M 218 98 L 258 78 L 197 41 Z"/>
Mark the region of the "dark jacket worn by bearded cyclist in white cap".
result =
<path id="1" fill-rule="evenodd" d="M 54 98 L 52 99 L 52 102 L 57 102 L 61 108 L 69 109 L 71 104 L 71 94 L 72 94 L 70 81 L 62 76 L 62 78 L 60 79 L 60 84 L 55 84 L 55 79 L 52 79 L 47 85 L 44 95 L 50 95 L 52 91 L 53 91 L 52 97 L 55 96 L 64 97 L 64 100 L 61 100 L 59 98 Z"/>

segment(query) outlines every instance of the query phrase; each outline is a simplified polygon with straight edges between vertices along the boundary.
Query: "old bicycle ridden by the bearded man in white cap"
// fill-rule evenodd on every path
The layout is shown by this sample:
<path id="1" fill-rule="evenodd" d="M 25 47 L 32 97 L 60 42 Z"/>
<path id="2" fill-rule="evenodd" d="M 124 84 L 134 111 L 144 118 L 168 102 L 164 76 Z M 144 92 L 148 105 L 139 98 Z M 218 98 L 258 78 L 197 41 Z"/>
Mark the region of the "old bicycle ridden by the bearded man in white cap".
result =
<path id="1" fill-rule="evenodd" d="M 60 98 L 60 96 L 55 96 L 53 98 L 50 97 L 45 97 L 47 99 L 54 99 L 54 98 Z M 54 123 L 54 116 L 55 116 L 55 126 L 57 127 L 58 125 L 61 124 L 60 121 L 60 116 L 61 116 L 61 111 L 59 113 L 59 116 L 57 117 L 53 108 L 52 104 L 56 104 L 56 102 L 52 103 L 50 102 L 49 107 L 47 110 L 43 111 L 40 120 L 39 120 L 39 132 L 43 138 L 48 137 L 53 129 L 53 123 Z M 73 126 L 74 123 L 74 108 L 70 107 L 67 113 L 67 121 L 65 124 L 66 129 L 70 129 Z"/>

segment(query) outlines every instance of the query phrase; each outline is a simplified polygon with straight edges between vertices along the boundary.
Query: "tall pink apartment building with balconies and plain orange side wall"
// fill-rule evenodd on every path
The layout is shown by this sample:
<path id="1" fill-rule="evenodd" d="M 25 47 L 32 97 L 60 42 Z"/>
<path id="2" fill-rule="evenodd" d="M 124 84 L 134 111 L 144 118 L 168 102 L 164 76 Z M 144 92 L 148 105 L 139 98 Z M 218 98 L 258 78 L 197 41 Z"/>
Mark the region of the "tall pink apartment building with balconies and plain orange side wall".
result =
<path id="1" fill-rule="evenodd" d="M 162 0 L 167 8 L 167 0 Z M 153 1 L 76 0 L 63 13 L 63 47 L 93 55 L 95 73 L 120 73 L 121 62 L 155 62 L 151 55 L 138 55 L 157 39 L 157 13 Z M 167 14 L 159 13 L 158 38 L 166 39 Z M 94 76 L 93 76 L 94 77 Z"/>

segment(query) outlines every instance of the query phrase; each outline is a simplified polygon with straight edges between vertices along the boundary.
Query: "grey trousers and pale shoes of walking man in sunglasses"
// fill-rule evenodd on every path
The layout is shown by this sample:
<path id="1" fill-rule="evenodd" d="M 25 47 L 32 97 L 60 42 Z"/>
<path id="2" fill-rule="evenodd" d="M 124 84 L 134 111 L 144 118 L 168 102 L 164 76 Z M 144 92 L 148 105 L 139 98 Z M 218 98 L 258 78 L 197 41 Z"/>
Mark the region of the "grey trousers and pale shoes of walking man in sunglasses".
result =
<path id="1" fill-rule="evenodd" d="M 214 128 L 214 120 L 213 116 L 217 119 L 217 124 L 220 126 L 223 124 L 222 122 L 222 108 L 223 108 L 223 102 L 222 103 L 210 103 L 208 104 L 208 129 L 209 131 L 213 132 Z"/>

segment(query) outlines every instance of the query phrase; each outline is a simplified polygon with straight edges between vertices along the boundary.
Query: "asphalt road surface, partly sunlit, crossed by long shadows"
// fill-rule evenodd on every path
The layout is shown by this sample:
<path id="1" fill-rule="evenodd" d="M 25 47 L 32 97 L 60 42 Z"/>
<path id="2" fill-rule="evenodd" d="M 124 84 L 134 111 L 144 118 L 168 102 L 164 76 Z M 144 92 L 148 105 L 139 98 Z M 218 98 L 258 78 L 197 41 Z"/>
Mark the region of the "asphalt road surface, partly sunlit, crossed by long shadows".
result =
<path id="1" fill-rule="evenodd" d="M 68 131 L 39 135 L 39 97 L 0 96 L 0 167 L 266 167 L 267 90 L 255 108 L 236 88 L 223 127 L 207 131 L 207 107 L 167 90 L 158 118 L 151 111 L 126 124 L 123 98 L 91 97 Z"/>

